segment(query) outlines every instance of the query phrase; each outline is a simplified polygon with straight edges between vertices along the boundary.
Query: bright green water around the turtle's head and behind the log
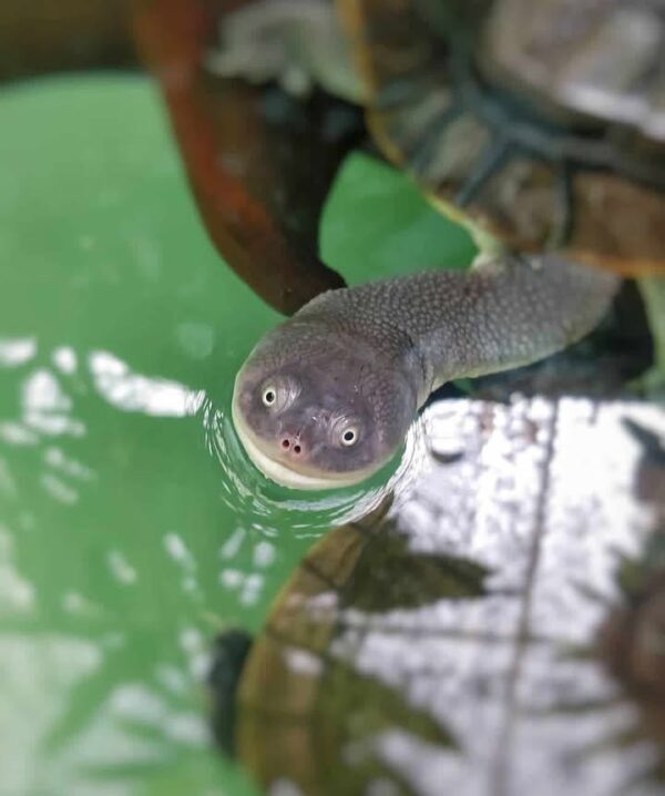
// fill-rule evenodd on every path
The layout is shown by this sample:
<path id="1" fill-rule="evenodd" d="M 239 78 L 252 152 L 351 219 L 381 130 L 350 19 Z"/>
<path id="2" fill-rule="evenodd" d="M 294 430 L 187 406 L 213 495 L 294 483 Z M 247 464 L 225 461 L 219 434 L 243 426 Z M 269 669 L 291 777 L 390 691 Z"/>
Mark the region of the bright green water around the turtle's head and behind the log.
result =
<path id="1" fill-rule="evenodd" d="M 209 641 L 257 631 L 369 488 L 304 502 L 237 449 L 278 316 L 208 243 L 150 84 L 24 84 L 0 119 L 0 794 L 253 794 L 209 743 Z M 359 155 L 321 234 L 351 283 L 472 251 Z"/>

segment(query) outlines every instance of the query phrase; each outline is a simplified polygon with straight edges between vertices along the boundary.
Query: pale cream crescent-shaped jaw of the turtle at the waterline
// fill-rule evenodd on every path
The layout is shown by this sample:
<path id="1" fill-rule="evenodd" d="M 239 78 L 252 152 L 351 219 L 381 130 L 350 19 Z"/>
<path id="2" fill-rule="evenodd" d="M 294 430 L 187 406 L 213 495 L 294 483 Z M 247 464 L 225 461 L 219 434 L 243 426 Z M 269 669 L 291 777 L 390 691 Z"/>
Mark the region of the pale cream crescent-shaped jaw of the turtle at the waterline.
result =
<path id="1" fill-rule="evenodd" d="M 308 467 L 307 465 L 300 465 L 298 468 L 295 468 L 291 462 L 284 460 L 276 446 L 270 446 L 254 433 L 243 418 L 235 395 L 231 407 L 231 415 L 236 435 L 252 463 L 263 472 L 266 478 L 269 478 L 282 487 L 301 490 L 340 489 L 341 487 L 351 487 L 365 480 L 376 469 L 371 468 L 352 472 L 328 472 Z"/>

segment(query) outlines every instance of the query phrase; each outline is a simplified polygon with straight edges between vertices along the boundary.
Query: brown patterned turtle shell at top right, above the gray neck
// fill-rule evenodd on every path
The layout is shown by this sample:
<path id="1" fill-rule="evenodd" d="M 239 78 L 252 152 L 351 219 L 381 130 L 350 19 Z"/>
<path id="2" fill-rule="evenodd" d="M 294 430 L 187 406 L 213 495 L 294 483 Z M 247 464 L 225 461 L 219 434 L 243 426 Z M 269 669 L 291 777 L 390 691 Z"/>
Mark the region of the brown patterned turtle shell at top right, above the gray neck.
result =
<path id="1" fill-rule="evenodd" d="M 665 271 L 665 7 L 338 0 L 382 152 L 507 245 Z"/>

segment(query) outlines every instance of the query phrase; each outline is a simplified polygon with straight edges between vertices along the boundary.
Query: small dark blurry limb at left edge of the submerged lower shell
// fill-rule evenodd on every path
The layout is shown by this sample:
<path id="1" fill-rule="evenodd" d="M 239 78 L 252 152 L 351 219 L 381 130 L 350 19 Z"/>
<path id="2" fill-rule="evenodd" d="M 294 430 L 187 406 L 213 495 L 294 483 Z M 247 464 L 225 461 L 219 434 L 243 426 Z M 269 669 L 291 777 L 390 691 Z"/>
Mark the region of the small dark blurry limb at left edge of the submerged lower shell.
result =
<path id="1" fill-rule="evenodd" d="M 212 729 L 222 751 L 235 755 L 236 693 L 252 636 L 242 630 L 228 630 L 215 639 L 213 663 L 208 673 L 212 694 Z"/>

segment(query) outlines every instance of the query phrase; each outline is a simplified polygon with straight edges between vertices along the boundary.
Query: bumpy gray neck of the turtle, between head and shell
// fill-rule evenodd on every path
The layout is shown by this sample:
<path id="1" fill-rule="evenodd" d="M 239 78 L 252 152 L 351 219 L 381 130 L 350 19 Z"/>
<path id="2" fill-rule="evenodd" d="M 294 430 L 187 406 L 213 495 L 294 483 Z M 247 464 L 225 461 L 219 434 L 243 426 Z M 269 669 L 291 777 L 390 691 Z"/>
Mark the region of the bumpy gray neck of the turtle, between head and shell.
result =
<path id="1" fill-rule="evenodd" d="M 469 272 L 434 271 L 334 290 L 298 313 L 370 343 L 416 355 L 424 400 L 452 379 L 535 361 L 583 337 L 620 278 L 555 255 L 501 257 Z"/>

